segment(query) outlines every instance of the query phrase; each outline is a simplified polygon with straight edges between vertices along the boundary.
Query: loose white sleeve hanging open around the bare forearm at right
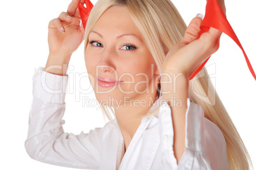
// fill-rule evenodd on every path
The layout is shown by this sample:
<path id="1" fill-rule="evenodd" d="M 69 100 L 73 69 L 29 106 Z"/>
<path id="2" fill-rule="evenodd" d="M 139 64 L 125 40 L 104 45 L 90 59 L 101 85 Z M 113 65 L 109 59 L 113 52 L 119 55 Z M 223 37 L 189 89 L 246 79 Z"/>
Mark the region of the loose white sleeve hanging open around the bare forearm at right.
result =
<path id="1" fill-rule="evenodd" d="M 230 169 L 225 138 L 210 120 L 204 117 L 203 106 L 187 98 L 185 113 L 185 152 L 179 164 L 173 153 L 173 122 L 171 109 L 163 104 L 159 109 L 160 137 L 163 143 L 162 169 Z M 171 129 L 171 131 L 169 130 Z M 171 140 L 169 140 L 171 139 Z M 168 141 L 168 142 L 167 142 Z"/>

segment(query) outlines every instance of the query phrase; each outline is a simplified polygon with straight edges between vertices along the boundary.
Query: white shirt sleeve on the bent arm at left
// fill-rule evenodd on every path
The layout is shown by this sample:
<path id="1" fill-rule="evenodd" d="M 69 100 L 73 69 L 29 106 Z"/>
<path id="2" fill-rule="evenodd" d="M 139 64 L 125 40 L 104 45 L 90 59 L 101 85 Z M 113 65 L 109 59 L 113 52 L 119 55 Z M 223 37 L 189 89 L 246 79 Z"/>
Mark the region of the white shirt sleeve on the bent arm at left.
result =
<path id="1" fill-rule="evenodd" d="M 88 134 L 65 133 L 62 129 L 68 76 L 35 69 L 29 131 L 25 149 L 32 159 L 57 166 L 98 169 L 103 130 Z"/>

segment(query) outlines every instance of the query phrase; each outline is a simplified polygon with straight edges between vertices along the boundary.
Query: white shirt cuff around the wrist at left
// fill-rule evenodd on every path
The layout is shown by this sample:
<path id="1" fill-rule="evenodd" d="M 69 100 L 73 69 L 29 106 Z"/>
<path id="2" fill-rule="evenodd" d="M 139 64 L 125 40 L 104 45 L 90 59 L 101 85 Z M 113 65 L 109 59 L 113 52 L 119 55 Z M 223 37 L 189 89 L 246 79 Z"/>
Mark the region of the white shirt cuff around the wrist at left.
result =
<path id="1" fill-rule="evenodd" d="M 64 103 L 68 75 L 60 76 L 44 71 L 44 67 L 34 69 L 33 97 L 48 103 Z"/>

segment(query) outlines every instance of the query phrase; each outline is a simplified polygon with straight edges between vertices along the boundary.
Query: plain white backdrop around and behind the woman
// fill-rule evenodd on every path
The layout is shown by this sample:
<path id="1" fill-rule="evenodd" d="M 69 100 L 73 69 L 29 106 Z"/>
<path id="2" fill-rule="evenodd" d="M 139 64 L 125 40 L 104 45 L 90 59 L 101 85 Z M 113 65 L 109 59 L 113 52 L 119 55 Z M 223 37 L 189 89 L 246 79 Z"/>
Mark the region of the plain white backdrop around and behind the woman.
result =
<path id="1" fill-rule="evenodd" d="M 34 68 L 44 67 L 48 57 L 48 22 L 66 11 L 71 0 L 1 1 L 1 107 L 0 107 L 0 169 L 68 169 L 32 160 L 25 152 L 29 109 L 32 101 Z M 92 1 L 93 4 L 96 1 Z M 173 0 L 188 24 L 197 13 L 203 13 L 204 0 Z M 227 0 L 227 18 L 256 71 L 255 3 L 251 0 Z M 70 61 L 74 73 L 84 73 L 83 44 Z M 256 81 L 253 79 L 239 47 L 225 34 L 220 49 L 206 64 L 215 80 L 215 87 L 236 125 L 256 166 Z M 211 66 L 211 67 L 210 67 Z M 79 81 L 78 81 L 79 82 Z M 81 86 L 87 89 L 86 78 Z M 85 86 L 85 87 L 84 87 Z M 77 94 L 67 94 L 64 120 L 66 132 L 79 134 L 105 122 L 101 111 L 83 107 L 75 100 Z M 91 99 L 94 94 L 90 93 Z"/>

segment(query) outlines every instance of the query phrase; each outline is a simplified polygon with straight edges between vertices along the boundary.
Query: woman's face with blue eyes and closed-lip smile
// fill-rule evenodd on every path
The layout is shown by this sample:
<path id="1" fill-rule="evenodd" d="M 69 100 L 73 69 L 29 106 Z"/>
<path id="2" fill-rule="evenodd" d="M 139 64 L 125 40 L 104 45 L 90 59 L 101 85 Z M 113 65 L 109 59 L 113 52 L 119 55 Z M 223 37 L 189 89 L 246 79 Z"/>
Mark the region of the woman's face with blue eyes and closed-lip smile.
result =
<path id="1" fill-rule="evenodd" d="M 125 6 L 111 6 L 89 34 L 85 64 L 97 101 L 117 106 L 156 94 L 158 69 Z"/>

